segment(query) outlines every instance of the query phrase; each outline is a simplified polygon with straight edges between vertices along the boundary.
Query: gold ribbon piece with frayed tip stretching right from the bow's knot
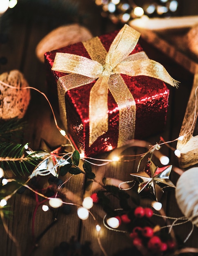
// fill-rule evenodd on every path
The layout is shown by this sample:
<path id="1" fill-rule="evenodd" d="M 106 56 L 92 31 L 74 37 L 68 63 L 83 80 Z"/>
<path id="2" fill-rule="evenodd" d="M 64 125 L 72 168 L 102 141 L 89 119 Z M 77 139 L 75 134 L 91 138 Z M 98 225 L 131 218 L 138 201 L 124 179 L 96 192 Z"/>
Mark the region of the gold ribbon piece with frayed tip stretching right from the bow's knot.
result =
<path id="1" fill-rule="evenodd" d="M 150 76 L 160 79 L 171 86 L 178 88 L 179 82 L 173 79 L 165 67 L 153 60 L 123 61 L 116 67 L 116 73 L 128 76 Z"/>

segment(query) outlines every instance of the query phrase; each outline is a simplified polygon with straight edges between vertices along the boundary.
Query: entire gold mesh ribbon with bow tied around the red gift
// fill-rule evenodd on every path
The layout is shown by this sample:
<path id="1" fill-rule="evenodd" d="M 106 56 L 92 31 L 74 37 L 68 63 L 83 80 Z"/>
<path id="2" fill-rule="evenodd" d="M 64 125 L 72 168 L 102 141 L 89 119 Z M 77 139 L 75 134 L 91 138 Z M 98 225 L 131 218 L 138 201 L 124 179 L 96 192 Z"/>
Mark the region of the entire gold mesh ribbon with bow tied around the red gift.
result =
<path id="1" fill-rule="evenodd" d="M 52 70 L 70 73 L 58 79 L 58 95 L 62 120 L 67 117 L 65 93 L 98 79 L 89 97 L 89 146 L 108 130 L 108 89 L 119 109 L 118 147 L 133 139 L 136 120 L 136 103 L 120 74 L 151 76 L 177 86 L 165 68 L 150 60 L 145 52 L 129 55 L 138 43 L 140 33 L 128 25 L 119 31 L 109 52 L 98 37 L 83 42 L 89 58 L 68 53 L 56 53 Z"/>

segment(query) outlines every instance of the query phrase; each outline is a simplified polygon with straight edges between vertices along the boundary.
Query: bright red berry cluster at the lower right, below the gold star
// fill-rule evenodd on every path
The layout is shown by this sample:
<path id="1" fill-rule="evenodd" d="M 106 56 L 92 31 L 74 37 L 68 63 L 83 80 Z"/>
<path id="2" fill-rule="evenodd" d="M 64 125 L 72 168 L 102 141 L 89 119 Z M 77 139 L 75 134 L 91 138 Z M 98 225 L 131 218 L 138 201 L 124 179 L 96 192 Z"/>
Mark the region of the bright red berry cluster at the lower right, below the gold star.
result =
<path id="1" fill-rule="evenodd" d="M 150 208 L 137 207 L 134 210 L 134 216 L 136 218 L 151 218 L 153 211 Z M 167 250 L 173 250 L 176 247 L 174 240 L 168 240 L 163 242 L 156 231 L 149 226 L 134 227 L 133 231 L 129 234 L 133 239 L 133 245 L 136 247 L 146 247 L 153 253 L 162 253 Z"/>

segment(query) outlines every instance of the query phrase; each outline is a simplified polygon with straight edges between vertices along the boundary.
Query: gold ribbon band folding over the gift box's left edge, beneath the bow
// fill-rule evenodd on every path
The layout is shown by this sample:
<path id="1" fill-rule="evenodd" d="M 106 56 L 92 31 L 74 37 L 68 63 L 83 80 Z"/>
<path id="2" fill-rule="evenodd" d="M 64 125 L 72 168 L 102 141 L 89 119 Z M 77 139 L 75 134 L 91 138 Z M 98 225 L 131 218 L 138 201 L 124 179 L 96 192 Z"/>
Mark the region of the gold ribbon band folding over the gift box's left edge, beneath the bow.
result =
<path id="1" fill-rule="evenodd" d="M 82 76 L 79 74 L 69 74 L 66 76 L 61 76 L 57 82 L 57 90 L 58 90 L 58 102 L 59 102 L 59 111 L 62 123 L 66 130 L 67 128 L 67 110 L 66 110 L 66 102 L 65 102 L 65 93 L 68 90 L 71 90 L 76 87 L 80 87 L 82 85 L 93 82 L 94 79 Z"/>

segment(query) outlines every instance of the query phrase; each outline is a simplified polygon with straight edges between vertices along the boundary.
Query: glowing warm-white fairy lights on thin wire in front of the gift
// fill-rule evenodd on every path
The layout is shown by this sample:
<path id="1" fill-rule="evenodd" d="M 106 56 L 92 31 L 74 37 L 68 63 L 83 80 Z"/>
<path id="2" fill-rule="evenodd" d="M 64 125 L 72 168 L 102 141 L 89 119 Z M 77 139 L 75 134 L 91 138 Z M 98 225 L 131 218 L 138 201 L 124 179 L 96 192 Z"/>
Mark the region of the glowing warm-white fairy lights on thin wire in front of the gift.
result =
<path id="1" fill-rule="evenodd" d="M 13 87 L 13 86 L 7 84 L 7 83 L 4 83 L 3 81 L 0 81 L 0 83 L 2 83 L 3 85 L 5 85 L 5 86 L 7 86 L 7 87 L 9 87 L 9 88 L 15 88 L 15 87 Z M 16 89 L 16 88 L 15 88 L 15 89 Z M 47 102 L 49 103 L 49 106 L 50 106 L 51 111 L 52 111 L 52 113 L 53 113 L 53 118 L 54 118 L 54 122 L 55 122 L 55 125 L 56 125 L 57 129 L 60 131 L 61 135 L 64 136 L 64 137 L 69 141 L 69 144 L 68 144 L 68 145 L 71 146 L 71 149 L 72 149 L 71 152 L 70 152 L 70 153 L 67 153 L 67 154 L 65 154 L 65 155 L 67 155 L 68 158 L 72 157 L 72 154 L 73 154 L 73 152 L 74 152 L 75 149 L 74 149 L 74 147 L 73 147 L 73 145 L 72 145 L 72 143 L 71 143 L 69 137 L 67 136 L 67 133 L 65 132 L 65 130 L 62 130 L 62 129 L 58 126 L 58 123 L 57 123 L 57 120 L 56 120 L 56 116 L 55 116 L 55 114 L 54 114 L 53 108 L 52 108 L 51 103 L 49 102 L 47 96 L 46 96 L 43 92 L 40 92 L 40 90 L 38 90 L 38 89 L 36 89 L 36 88 L 33 88 L 33 87 L 25 87 L 25 88 L 22 88 L 22 89 L 32 89 L 32 90 L 36 90 L 37 92 L 39 92 L 40 94 L 42 94 L 42 95 L 45 97 L 45 99 L 46 99 Z M 197 94 L 197 89 L 198 89 L 198 87 L 196 88 L 196 91 L 195 91 L 196 101 L 197 101 L 197 95 L 196 95 L 196 94 Z M 194 108 L 194 121 L 193 121 L 193 124 L 192 124 L 192 126 L 191 126 L 189 132 L 191 131 L 191 129 L 192 129 L 192 127 L 194 126 L 194 123 L 195 123 L 195 121 L 196 121 L 196 104 L 197 104 L 196 101 L 195 101 L 195 108 Z M 189 132 L 187 132 L 186 134 L 184 134 L 184 135 L 182 135 L 182 136 L 180 136 L 180 137 L 178 137 L 178 138 L 176 138 L 176 139 L 174 139 L 174 140 L 171 140 L 171 141 L 164 141 L 163 139 L 161 139 L 161 141 L 162 141 L 161 143 L 156 143 L 156 144 L 153 145 L 153 146 L 149 145 L 149 143 L 147 143 L 146 141 L 138 141 L 138 140 L 136 141 L 136 140 L 133 140 L 133 141 L 131 141 L 131 144 L 126 145 L 124 148 L 122 148 L 122 149 L 117 148 L 117 149 L 113 150 L 113 151 L 110 153 L 110 159 L 97 159 L 97 158 L 93 158 L 93 157 L 84 157 L 83 153 L 82 153 L 82 155 L 80 156 L 80 158 L 83 159 L 83 160 L 85 160 L 85 161 L 87 161 L 87 162 L 89 162 L 90 164 L 94 164 L 94 165 L 96 165 L 96 166 L 102 166 L 102 165 L 110 164 L 110 163 L 112 163 L 112 162 L 126 162 L 126 161 L 129 161 L 129 160 L 122 159 L 124 156 L 126 157 L 126 155 L 122 155 L 122 154 L 121 154 L 122 151 L 123 151 L 125 148 L 127 148 L 127 147 L 131 147 L 131 146 L 141 146 L 141 147 L 144 147 L 144 148 L 148 148 L 148 150 L 147 150 L 145 153 L 141 154 L 141 155 L 130 155 L 130 157 L 140 157 L 140 161 L 141 161 L 142 157 L 145 157 L 145 155 L 147 155 L 148 153 L 151 153 L 151 154 L 155 154 L 156 157 L 158 157 L 158 159 L 160 160 L 160 162 L 161 162 L 162 165 L 167 165 L 167 164 L 169 163 L 169 157 L 167 157 L 167 156 L 165 156 L 165 155 L 162 155 L 162 153 L 160 153 L 160 148 L 161 148 L 161 146 L 162 146 L 162 145 L 169 145 L 170 143 L 172 143 L 172 142 L 174 142 L 174 141 L 177 141 L 177 140 L 182 140 L 182 139 L 185 138 L 186 135 L 189 134 Z M 68 146 L 68 145 L 67 145 L 67 146 Z M 170 147 L 170 146 L 169 146 L 169 147 Z M 26 145 L 24 146 L 24 148 L 25 148 L 26 150 L 30 150 L 31 152 L 33 152 L 33 151 L 29 148 L 28 144 L 26 144 Z M 176 157 L 180 157 L 180 150 L 177 150 L 177 149 L 172 148 L 172 147 L 171 147 L 171 149 L 174 150 L 174 153 L 175 153 Z M 49 157 L 49 155 L 44 155 L 44 159 L 45 159 L 46 157 Z M 64 155 L 61 155 L 61 156 L 60 156 L 60 159 L 63 159 L 63 157 L 64 157 Z M 129 156 L 128 156 L 128 157 L 129 157 Z M 60 160 L 60 159 L 59 159 L 59 160 Z M 96 164 L 96 163 L 91 162 L 91 160 L 94 160 L 94 161 L 97 160 L 97 161 L 102 162 L 102 163 Z M 56 165 L 57 165 L 57 166 L 59 165 L 58 160 L 57 160 Z M 36 169 L 36 168 L 35 168 L 35 169 Z M 45 174 L 41 174 L 41 173 L 39 173 L 39 171 L 36 173 L 36 175 L 48 175 L 48 174 L 49 174 L 48 172 L 45 173 Z M 103 252 L 104 255 L 106 256 L 107 254 L 106 254 L 106 252 L 105 252 L 105 250 L 104 250 L 104 248 L 102 247 L 101 242 L 100 242 L 100 236 L 99 236 L 99 234 L 100 234 L 101 226 L 98 224 L 98 221 L 96 220 L 95 216 L 93 216 L 93 214 L 92 214 L 91 211 L 90 211 L 90 209 L 93 207 L 93 202 L 94 202 L 93 197 L 91 197 L 91 196 L 85 197 L 85 198 L 83 199 L 83 201 L 82 201 L 82 205 L 80 205 L 80 204 L 75 204 L 75 203 L 70 203 L 70 202 L 64 202 L 64 201 L 62 201 L 61 198 L 56 197 L 57 194 L 56 194 L 56 196 L 53 197 L 53 198 L 47 197 L 47 196 L 43 195 L 42 193 L 39 193 L 38 191 L 32 189 L 32 188 L 28 185 L 28 182 L 29 182 L 29 180 L 31 179 L 31 177 L 33 177 L 33 175 L 30 175 L 30 176 L 29 176 L 29 179 L 27 180 L 27 182 L 25 182 L 25 183 L 23 183 L 23 184 L 21 183 L 21 186 L 27 187 L 28 189 L 30 189 L 31 191 L 33 191 L 35 194 L 40 195 L 42 198 L 48 200 L 50 207 L 56 209 L 56 208 L 61 207 L 62 204 L 74 205 L 74 206 L 77 207 L 77 215 L 78 215 L 78 217 L 79 217 L 81 220 L 86 220 L 87 218 L 89 218 L 89 215 L 92 216 L 92 218 L 93 218 L 93 220 L 95 221 L 95 224 L 96 224 L 96 225 L 95 225 L 96 231 L 98 232 L 98 236 L 97 236 L 97 238 L 98 238 L 98 243 L 99 243 L 99 245 L 100 245 L 100 248 L 101 248 L 102 252 Z M 71 175 L 63 184 L 66 184 L 66 183 L 71 179 L 71 177 L 73 177 L 73 175 Z M 4 178 L 4 170 L 3 170 L 2 168 L 0 168 L 0 178 L 2 178 L 2 185 L 5 185 L 5 184 L 7 184 L 8 182 L 13 182 L 13 181 L 18 182 L 18 181 L 15 180 L 15 179 L 7 179 L 7 178 Z M 19 183 L 19 182 L 18 182 L 18 183 Z M 61 187 L 62 187 L 63 184 L 61 184 L 61 185 L 58 187 L 58 190 L 61 189 Z M 17 191 L 17 190 L 18 190 L 18 189 L 16 189 L 16 191 Z M 0 200 L 0 208 L 3 208 L 3 207 L 5 207 L 5 206 L 7 205 L 7 201 L 9 200 L 9 198 L 11 198 L 12 195 L 14 195 L 14 194 L 16 193 L 16 191 L 13 191 L 10 195 L 7 195 L 5 198 L 2 198 L 2 199 Z M 42 204 L 42 210 L 43 210 L 44 212 L 49 211 L 49 209 L 50 209 L 49 206 L 48 206 L 47 204 Z M 151 202 L 151 207 L 153 207 L 156 211 L 162 211 L 162 204 L 161 204 L 161 202 L 152 201 L 152 202 Z M 2 213 L 1 213 L 1 216 L 2 216 Z M 166 217 L 166 218 L 169 218 L 169 217 Z M 173 222 L 171 225 L 169 225 L 170 230 L 171 230 L 172 227 L 175 226 L 175 225 L 181 225 L 182 223 L 188 222 L 187 218 L 173 218 L 173 220 L 174 220 L 174 222 Z M 181 222 L 178 224 L 178 223 L 176 223 L 177 221 L 181 221 Z M 117 231 L 119 232 L 118 227 L 120 226 L 120 223 L 119 223 L 118 218 L 111 217 L 111 218 L 107 218 L 107 219 L 106 219 L 106 216 L 105 216 L 104 219 L 103 219 L 103 223 L 105 223 L 104 225 L 105 225 L 105 227 L 107 227 L 108 229 L 110 229 L 110 230 L 113 229 L 114 231 L 117 230 Z M 4 225 L 6 225 L 6 224 L 4 223 Z M 194 226 L 192 227 L 191 231 L 189 232 L 187 238 L 189 238 L 189 236 L 191 235 L 191 233 L 192 233 L 192 231 L 193 231 L 193 228 L 194 228 Z"/>

